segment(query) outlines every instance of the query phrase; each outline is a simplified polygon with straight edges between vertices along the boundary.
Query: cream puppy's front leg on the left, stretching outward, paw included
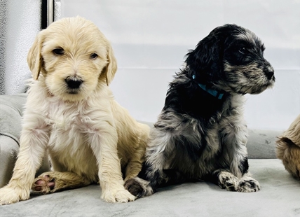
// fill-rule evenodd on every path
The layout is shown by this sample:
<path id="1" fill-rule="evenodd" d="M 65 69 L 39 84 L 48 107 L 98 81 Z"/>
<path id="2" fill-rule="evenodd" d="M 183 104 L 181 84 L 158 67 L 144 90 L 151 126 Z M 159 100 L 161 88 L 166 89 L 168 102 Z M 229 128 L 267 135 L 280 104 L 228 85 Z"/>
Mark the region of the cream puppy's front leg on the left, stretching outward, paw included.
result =
<path id="1" fill-rule="evenodd" d="M 48 144 L 48 127 L 29 116 L 20 137 L 20 152 L 15 162 L 13 176 L 7 186 L 0 189 L 0 204 L 12 204 L 29 199 L 30 188 L 34 182 L 36 170 L 41 166 L 46 145 Z M 39 126 L 36 123 L 40 123 Z"/>

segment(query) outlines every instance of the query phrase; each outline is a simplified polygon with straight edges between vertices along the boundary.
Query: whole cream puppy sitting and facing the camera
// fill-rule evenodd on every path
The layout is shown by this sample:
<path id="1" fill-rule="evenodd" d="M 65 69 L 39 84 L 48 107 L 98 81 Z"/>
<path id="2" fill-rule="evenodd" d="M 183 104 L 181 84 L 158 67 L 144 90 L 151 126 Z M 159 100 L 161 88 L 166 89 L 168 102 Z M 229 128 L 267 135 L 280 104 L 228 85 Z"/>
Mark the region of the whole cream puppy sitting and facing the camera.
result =
<path id="1" fill-rule="evenodd" d="M 107 202 L 135 200 L 123 187 L 144 162 L 149 127 L 137 123 L 108 85 L 117 65 L 100 30 L 84 18 L 64 18 L 41 31 L 27 57 L 29 87 L 13 176 L 1 204 L 100 182 Z M 48 152 L 53 167 L 34 179 Z"/>

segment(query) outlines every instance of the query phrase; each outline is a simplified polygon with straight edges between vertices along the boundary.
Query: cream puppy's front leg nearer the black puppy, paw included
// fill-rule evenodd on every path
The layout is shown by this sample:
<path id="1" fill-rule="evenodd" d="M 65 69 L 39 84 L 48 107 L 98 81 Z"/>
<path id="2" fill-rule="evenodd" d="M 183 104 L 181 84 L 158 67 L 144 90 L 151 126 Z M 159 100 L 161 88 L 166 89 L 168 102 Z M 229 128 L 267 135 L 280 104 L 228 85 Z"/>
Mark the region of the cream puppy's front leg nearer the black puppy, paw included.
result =
<path id="1" fill-rule="evenodd" d="M 90 144 L 99 168 L 101 198 L 107 202 L 134 201 L 135 196 L 123 187 L 124 181 L 117 152 L 118 136 L 116 130 L 109 124 L 104 129 L 89 134 Z"/>

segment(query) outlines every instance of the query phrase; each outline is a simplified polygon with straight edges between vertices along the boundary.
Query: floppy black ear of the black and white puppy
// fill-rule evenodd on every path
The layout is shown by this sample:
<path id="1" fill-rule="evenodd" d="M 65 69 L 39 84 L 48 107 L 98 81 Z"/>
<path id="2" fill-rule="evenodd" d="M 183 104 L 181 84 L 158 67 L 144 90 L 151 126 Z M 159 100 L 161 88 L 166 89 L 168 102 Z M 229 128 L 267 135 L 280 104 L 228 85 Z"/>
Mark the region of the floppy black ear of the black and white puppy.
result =
<path id="1" fill-rule="evenodd" d="M 195 50 L 189 50 L 186 55 L 186 66 L 190 76 L 195 75 L 201 83 L 210 83 L 221 73 L 223 46 L 222 39 L 217 34 L 217 28 L 199 41 Z"/>

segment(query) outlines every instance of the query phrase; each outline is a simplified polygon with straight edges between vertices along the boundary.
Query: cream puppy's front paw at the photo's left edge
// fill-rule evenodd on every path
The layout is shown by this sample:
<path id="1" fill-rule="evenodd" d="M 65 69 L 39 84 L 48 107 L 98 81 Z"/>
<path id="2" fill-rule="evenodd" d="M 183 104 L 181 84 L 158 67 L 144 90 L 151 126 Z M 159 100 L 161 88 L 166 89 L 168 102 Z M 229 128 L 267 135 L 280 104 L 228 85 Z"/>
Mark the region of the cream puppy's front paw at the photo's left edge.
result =
<path id="1" fill-rule="evenodd" d="M 30 191 L 24 188 L 6 186 L 0 188 L 0 204 L 13 204 L 21 200 L 28 200 Z"/>

